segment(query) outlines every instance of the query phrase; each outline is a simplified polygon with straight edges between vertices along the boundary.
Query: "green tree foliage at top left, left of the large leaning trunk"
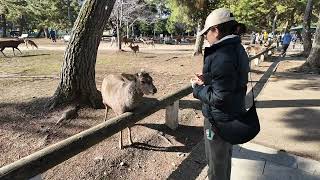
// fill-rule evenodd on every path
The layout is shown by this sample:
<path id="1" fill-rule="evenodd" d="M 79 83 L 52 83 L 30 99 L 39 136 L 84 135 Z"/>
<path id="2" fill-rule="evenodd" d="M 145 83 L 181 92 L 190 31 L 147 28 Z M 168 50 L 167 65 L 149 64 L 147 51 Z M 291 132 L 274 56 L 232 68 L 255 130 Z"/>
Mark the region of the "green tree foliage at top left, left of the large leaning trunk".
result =
<path id="1" fill-rule="evenodd" d="M 71 21 L 69 21 L 67 2 L 67 0 L 0 0 L 0 7 L 7 9 L 7 20 L 15 25 L 27 29 L 40 27 L 66 29 L 71 27 L 80 10 L 78 0 L 70 0 Z"/>

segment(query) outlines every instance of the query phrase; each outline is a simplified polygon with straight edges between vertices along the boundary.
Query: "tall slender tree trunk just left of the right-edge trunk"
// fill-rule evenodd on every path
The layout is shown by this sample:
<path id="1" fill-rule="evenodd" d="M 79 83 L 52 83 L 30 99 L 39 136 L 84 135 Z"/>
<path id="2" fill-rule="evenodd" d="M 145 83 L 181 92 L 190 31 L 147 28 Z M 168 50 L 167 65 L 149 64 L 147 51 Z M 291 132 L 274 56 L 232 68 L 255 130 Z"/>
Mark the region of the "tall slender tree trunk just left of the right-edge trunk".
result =
<path id="1" fill-rule="evenodd" d="M 308 57 L 312 48 L 311 44 L 311 32 L 310 32 L 310 24 L 311 24 L 311 13 L 312 13 L 312 0 L 308 0 L 306 10 L 303 17 L 303 31 L 302 31 L 302 39 L 303 39 L 303 56 Z"/>

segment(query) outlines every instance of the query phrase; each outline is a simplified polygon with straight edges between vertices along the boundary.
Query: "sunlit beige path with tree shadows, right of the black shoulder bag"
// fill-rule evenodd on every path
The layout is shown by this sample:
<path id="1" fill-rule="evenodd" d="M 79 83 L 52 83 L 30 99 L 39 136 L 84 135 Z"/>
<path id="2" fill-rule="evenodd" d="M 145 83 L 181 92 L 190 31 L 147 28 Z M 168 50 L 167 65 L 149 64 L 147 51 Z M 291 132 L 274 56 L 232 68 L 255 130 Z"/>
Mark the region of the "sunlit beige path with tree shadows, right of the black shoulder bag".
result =
<path id="1" fill-rule="evenodd" d="M 320 161 L 319 90 L 319 75 L 276 71 L 257 97 L 261 131 L 253 142 Z"/>

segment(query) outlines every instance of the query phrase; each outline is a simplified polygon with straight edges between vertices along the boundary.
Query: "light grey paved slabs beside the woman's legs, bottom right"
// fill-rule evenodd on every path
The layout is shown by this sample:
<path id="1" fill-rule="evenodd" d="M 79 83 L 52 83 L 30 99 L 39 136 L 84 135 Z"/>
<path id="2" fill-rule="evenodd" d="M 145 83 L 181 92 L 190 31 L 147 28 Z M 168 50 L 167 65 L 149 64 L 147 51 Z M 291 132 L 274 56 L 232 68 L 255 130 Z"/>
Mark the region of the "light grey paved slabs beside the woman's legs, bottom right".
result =
<path id="1" fill-rule="evenodd" d="M 196 179 L 207 179 L 207 169 Z M 320 162 L 246 143 L 234 146 L 231 180 L 320 180 Z"/>

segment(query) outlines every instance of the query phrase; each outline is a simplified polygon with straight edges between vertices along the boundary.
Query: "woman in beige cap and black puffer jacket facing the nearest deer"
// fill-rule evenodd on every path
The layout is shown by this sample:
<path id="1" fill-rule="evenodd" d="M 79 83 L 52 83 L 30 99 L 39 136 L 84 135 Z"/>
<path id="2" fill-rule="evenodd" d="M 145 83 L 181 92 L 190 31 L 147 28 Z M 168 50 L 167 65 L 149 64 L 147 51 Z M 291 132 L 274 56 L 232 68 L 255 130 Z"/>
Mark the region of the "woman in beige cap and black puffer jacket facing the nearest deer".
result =
<path id="1" fill-rule="evenodd" d="M 205 153 L 210 180 L 229 180 L 232 145 L 217 132 L 216 122 L 232 121 L 246 112 L 249 58 L 241 45 L 243 25 L 225 8 L 212 11 L 204 29 L 210 47 L 204 52 L 202 73 L 191 79 L 193 95 L 202 102 Z"/>

